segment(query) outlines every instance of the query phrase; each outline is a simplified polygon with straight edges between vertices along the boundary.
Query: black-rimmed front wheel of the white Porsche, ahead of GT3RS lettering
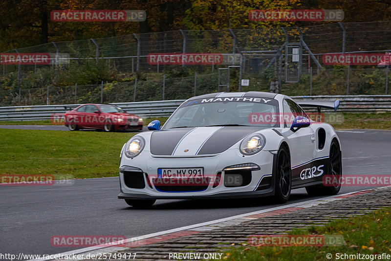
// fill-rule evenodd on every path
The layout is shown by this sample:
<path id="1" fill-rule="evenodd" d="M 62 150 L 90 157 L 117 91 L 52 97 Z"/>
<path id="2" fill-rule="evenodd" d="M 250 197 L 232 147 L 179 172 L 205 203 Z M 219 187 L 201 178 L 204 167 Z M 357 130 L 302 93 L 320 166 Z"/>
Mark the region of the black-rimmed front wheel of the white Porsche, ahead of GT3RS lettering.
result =
<path id="1" fill-rule="evenodd" d="M 274 199 L 278 203 L 285 203 L 290 197 L 292 188 L 292 169 L 289 150 L 282 145 L 277 153 L 276 178 L 274 183 Z"/>

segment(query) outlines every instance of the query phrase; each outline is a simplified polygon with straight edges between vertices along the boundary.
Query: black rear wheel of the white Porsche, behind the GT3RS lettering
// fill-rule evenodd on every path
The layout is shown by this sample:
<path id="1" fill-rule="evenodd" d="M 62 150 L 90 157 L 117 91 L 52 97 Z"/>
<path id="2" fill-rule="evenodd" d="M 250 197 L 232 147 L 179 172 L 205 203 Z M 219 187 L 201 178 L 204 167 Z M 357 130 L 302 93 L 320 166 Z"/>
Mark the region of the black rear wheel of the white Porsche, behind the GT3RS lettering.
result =
<path id="1" fill-rule="evenodd" d="M 332 177 L 332 180 L 340 180 L 342 177 L 342 157 L 341 149 L 336 140 L 333 140 L 330 144 L 330 157 L 328 158 L 328 173 Z M 336 186 L 325 186 L 324 184 L 318 186 L 306 187 L 305 190 L 310 196 L 323 196 L 323 195 L 337 195 L 341 190 L 341 184 Z"/>

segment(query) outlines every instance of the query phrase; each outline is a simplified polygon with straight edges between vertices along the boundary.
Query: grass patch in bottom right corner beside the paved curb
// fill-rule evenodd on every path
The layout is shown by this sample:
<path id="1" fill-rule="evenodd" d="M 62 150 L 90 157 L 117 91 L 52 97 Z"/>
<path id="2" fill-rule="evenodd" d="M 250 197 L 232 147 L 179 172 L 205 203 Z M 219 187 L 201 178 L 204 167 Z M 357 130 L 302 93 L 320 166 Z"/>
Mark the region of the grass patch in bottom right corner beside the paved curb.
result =
<path id="1" fill-rule="evenodd" d="M 342 235 L 346 242 L 342 246 L 239 246 L 226 250 L 223 256 L 226 261 L 312 261 L 328 260 L 326 254 L 390 254 L 391 255 L 391 208 L 348 219 L 337 219 L 325 226 L 314 226 L 309 229 L 295 229 L 289 234 L 295 235 Z M 247 242 L 248 243 L 248 242 Z M 342 260 L 342 259 L 340 259 Z M 349 260 L 349 259 L 345 259 Z"/>

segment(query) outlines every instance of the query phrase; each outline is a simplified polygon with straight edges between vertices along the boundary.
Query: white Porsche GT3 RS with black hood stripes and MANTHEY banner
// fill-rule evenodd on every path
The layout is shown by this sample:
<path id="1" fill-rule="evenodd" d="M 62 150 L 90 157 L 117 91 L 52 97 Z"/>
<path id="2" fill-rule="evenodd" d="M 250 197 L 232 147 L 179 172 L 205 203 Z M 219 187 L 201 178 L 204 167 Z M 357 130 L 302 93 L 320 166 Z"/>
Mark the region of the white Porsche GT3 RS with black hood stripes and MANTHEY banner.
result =
<path id="1" fill-rule="evenodd" d="M 273 196 L 291 189 L 337 194 L 341 144 L 333 127 L 299 106 L 338 109 L 339 101 L 302 101 L 268 92 L 221 92 L 182 103 L 160 128 L 133 136 L 121 150 L 118 198 L 135 207 L 156 199 Z"/>

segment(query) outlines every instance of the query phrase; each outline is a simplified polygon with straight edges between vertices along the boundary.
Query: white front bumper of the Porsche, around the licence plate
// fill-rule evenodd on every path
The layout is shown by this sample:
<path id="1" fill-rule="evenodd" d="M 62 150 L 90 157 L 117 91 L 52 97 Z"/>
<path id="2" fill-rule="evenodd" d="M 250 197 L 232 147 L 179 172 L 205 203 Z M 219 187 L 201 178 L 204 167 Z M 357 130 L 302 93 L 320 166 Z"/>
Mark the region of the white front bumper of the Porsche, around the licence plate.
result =
<path id="1" fill-rule="evenodd" d="M 130 188 L 129 181 L 125 182 L 125 176 L 131 175 L 131 172 L 120 172 L 121 193 L 118 198 L 126 199 L 183 199 L 183 198 L 239 198 L 256 196 L 274 195 L 274 175 L 273 157 L 268 151 L 261 151 L 254 155 L 243 155 L 238 149 L 229 149 L 213 156 L 195 156 L 195 157 L 171 157 L 171 156 L 153 156 L 149 151 L 143 151 L 134 158 L 122 156 L 120 169 L 137 168 L 142 173 L 140 179 L 143 179 L 144 186 L 134 186 Z M 227 187 L 223 182 L 214 186 L 213 182 L 202 191 L 161 191 L 157 189 L 153 182 L 149 182 L 151 177 L 157 176 L 158 168 L 197 168 L 204 169 L 205 176 L 216 177 L 218 173 L 221 180 L 225 179 L 224 169 L 228 166 L 254 163 L 261 169 L 251 171 L 251 180 L 244 186 Z M 127 177 L 128 179 L 128 177 Z M 270 186 L 261 186 L 265 181 Z M 267 185 L 267 184 L 266 184 Z"/>

